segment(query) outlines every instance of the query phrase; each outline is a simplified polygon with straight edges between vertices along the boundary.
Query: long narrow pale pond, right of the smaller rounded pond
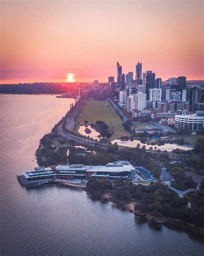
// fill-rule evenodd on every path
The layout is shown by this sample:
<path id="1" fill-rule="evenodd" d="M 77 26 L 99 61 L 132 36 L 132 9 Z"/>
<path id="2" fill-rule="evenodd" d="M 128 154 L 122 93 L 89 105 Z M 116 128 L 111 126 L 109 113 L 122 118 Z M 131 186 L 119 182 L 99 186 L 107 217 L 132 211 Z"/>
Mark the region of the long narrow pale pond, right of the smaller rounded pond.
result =
<path id="1" fill-rule="evenodd" d="M 157 147 L 157 149 L 161 149 L 161 150 L 167 150 L 168 152 L 171 152 L 171 150 L 179 148 L 182 150 L 192 150 L 193 147 L 190 146 L 186 146 L 186 145 L 177 145 L 177 144 L 170 144 L 170 143 L 166 143 L 165 145 L 148 145 L 148 144 L 144 144 L 141 141 L 138 140 L 134 140 L 134 141 L 121 141 L 121 140 L 114 140 L 111 141 L 112 144 L 114 144 L 115 142 L 117 142 L 118 146 L 124 146 L 124 147 L 136 147 L 137 144 L 140 144 L 140 147 L 144 146 L 146 147 L 146 149 L 149 149 L 149 147 L 153 147 L 153 149 L 155 147 Z"/>

